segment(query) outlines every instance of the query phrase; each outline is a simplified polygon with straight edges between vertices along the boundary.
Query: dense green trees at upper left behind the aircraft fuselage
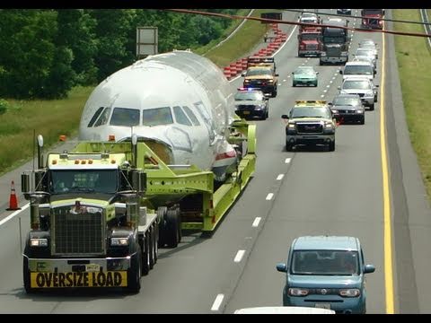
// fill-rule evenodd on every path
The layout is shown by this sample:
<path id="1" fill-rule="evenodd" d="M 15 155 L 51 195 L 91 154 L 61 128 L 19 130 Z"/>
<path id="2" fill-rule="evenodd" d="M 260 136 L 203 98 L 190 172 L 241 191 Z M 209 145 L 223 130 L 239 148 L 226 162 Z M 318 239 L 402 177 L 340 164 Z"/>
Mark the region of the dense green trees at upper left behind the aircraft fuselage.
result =
<path id="1" fill-rule="evenodd" d="M 138 26 L 158 28 L 163 53 L 205 46 L 231 23 L 150 9 L 0 9 L 0 97 L 61 99 L 100 83 L 136 60 Z"/>

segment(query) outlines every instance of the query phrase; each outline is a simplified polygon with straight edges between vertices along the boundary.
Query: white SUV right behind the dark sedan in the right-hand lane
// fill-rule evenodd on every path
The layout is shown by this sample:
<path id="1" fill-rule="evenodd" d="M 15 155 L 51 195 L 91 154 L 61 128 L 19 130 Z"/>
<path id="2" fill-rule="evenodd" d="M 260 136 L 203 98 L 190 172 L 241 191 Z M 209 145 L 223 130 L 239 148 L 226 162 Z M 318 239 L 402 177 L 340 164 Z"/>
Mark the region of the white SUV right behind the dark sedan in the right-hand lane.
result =
<path id="1" fill-rule="evenodd" d="M 373 81 L 366 78 L 347 78 L 339 86 L 340 94 L 358 94 L 365 106 L 374 110 L 374 103 L 377 102 L 377 88 Z"/>

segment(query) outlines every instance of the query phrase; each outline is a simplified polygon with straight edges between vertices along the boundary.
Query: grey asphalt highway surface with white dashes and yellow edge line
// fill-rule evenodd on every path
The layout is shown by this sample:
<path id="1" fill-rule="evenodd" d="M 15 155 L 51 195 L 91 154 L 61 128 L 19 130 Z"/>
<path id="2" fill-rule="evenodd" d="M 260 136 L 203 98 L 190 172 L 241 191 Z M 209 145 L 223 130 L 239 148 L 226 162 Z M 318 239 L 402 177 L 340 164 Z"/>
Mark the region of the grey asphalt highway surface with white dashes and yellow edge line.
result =
<path id="1" fill-rule="evenodd" d="M 284 20 L 296 18 L 297 13 L 284 13 Z M 350 18 L 350 26 L 359 24 Z M 368 313 L 431 312 L 431 212 L 409 144 L 393 36 L 352 34 L 350 53 L 363 38 L 379 45 L 375 83 L 381 91 L 374 111 L 365 112 L 365 125 L 339 126 L 333 153 L 287 153 L 281 115 L 295 100 L 332 100 L 342 77 L 339 65 L 296 57 L 297 29 L 281 28 L 291 36 L 276 55 L 278 95 L 270 99 L 269 118 L 252 121 L 258 125 L 257 170 L 213 237 L 189 233 L 177 249 L 162 249 L 136 295 L 103 290 L 27 295 L 21 246 L 30 215 L 22 210 L 0 222 L 0 313 L 233 313 L 277 306 L 286 278 L 276 263 L 286 261 L 296 237 L 320 234 L 361 240 L 365 262 L 376 266 L 367 275 Z M 291 72 L 298 65 L 320 72 L 317 88 L 292 87 Z M 240 86 L 242 78 L 233 84 Z M 0 179 L 3 196 L 21 170 Z M 11 214 L 3 208 L 0 221 Z"/>

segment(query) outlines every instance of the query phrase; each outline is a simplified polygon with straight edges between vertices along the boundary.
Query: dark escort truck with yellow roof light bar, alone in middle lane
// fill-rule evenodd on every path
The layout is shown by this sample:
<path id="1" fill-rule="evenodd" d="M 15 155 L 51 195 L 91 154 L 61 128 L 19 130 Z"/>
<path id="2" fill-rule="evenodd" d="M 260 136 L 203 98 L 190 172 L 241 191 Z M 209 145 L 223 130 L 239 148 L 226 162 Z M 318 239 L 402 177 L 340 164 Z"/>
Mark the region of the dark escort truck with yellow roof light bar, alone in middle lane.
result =
<path id="1" fill-rule="evenodd" d="M 335 150 L 336 120 L 332 117 L 326 100 L 296 100 L 286 122 L 286 151 L 296 145 L 326 144 L 329 151 Z"/>

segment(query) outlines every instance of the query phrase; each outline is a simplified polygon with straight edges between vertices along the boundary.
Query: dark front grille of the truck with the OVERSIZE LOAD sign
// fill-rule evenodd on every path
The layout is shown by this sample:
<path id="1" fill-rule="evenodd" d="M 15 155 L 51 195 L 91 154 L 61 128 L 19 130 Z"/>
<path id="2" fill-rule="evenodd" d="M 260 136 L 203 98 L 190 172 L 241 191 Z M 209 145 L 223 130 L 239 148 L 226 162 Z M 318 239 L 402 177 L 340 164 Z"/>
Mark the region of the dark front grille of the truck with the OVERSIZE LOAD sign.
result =
<path id="1" fill-rule="evenodd" d="M 53 209 L 51 247 L 53 255 L 84 256 L 105 253 L 101 212 L 74 212 L 74 205 Z"/>

